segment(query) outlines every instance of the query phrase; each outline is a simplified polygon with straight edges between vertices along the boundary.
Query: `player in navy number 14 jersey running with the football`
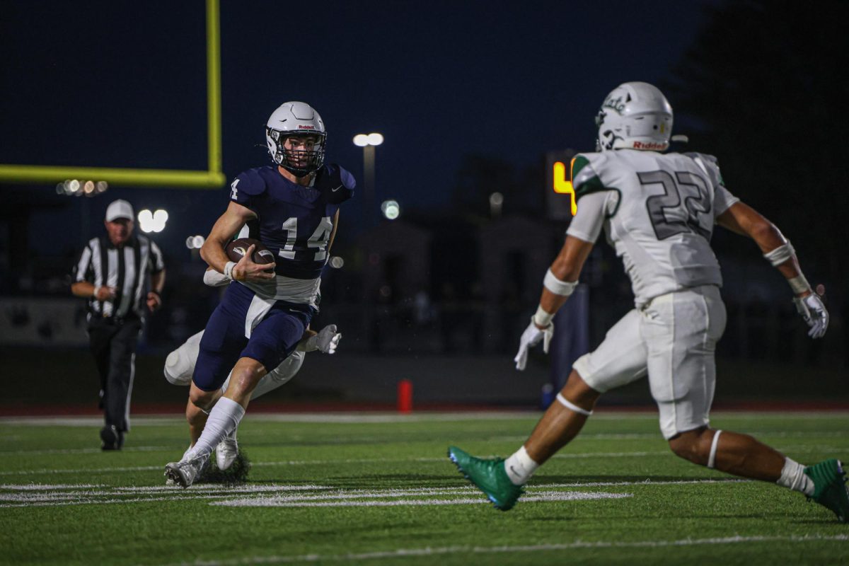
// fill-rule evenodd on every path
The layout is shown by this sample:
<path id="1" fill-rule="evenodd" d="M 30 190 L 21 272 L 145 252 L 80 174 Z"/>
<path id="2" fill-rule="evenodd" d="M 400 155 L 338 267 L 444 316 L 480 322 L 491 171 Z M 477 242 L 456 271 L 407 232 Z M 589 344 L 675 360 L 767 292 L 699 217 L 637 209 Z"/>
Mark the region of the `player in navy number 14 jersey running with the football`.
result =
<path id="1" fill-rule="evenodd" d="M 188 487 L 213 448 L 245 415 L 260 379 L 278 367 L 301 340 L 318 310 L 321 272 L 335 237 L 339 206 L 354 189 L 351 173 L 324 165 L 327 131 L 309 104 L 287 102 L 266 126 L 275 165 L 250 169 L 230 185 L 230 203 L 205 240 L 200 256 L 228 285 L 212 313 L 194 368 L 189 401 L 209 417 L 194 448 L 166 465 L 166 477 Z M 237 263 L 224 245 L 245 224 L 270 249 L 276 263 L 256 264 L 253 246 Z M 228 373 L 232 378 L 216 402 Z"/>

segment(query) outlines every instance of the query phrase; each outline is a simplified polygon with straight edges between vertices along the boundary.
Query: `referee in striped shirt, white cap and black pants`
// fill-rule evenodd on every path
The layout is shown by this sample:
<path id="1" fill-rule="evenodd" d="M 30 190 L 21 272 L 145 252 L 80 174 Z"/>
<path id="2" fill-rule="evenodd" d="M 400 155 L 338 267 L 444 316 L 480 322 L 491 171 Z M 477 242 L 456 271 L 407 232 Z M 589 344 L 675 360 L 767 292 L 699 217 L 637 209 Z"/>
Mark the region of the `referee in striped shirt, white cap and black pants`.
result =
<path id="1" fill-rule="evenodd" d="M 130 395 L 136 342 L 144 305 L 162 304 L 162 252 L 149 238 L 133 235 L 132 205 L 115 200 L 106 209 L 106 236 L 92 238 L 74 266 L 71 293 L 88 299 L 88 339 L 100 374 L 103 450 L 121 450 L 130 429 Z M 145 289 L 147 293 L 145 294 Z"/>

